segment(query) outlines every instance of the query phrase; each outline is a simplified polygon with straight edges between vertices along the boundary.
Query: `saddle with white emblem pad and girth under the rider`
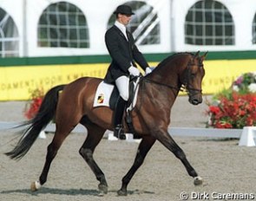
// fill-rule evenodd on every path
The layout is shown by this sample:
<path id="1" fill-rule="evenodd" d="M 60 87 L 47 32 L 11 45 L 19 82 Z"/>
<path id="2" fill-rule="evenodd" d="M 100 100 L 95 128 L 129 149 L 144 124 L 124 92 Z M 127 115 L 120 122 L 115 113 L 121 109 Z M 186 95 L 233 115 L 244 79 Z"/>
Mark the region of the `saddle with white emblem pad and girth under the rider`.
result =
<path id="1" fill-rule="evenodd" d="M 139 89 L 139 81 L 141 77 L 130 76 L 129 82 L 129 98 L 128 104 L 125 109 L 125 121 L 128 125 L 130 133 L 135 133 L 133 126 L 131 111 L 135 107 L 137 100 L 137 93 Z M 95 100 L 93 107 L 109 107 L 111 110 L 115 110 L 116 103 L 120 97 L 119 91 L 115 85 L 108 84 L 102 81 L 96 90 Z"/>

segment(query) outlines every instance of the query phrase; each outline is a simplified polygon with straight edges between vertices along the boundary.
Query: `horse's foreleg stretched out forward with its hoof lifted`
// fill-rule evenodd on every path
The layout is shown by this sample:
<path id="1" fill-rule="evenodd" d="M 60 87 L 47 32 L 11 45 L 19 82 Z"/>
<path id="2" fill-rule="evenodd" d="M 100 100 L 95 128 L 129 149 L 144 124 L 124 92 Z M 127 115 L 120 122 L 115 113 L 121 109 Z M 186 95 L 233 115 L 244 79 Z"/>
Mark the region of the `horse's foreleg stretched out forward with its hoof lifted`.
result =
<path id="1" fill-rule="evenodd" d="M 181 147 L 176 144 L 169 133 L 157 133 L 155 137 L 161 142 L 162 145 L 166 146 L 168 150 L 173 152 L 176 158 L 181 159 L 182 164 L 186 167 L 187 173 L 194 178 L 194 185 L 201 185 L 202 178 L 200 178 L 197 172 L 195 172 L 193 166 L 188 162 L 185 153 Z"/>

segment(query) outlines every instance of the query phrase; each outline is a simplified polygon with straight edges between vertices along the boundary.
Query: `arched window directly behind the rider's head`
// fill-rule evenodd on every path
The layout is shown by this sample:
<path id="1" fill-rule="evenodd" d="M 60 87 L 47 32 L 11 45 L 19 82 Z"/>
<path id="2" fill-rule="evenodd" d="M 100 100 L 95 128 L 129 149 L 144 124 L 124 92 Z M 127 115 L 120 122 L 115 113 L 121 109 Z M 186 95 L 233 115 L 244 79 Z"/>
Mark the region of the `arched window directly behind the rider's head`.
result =
<path id="1" fill-rule="evenodd" d="M 124 4 L 130 6 L 135 12 L 127 29 L 135 37 L 136 44 L 146 45 L 160 43 L 160 20 L 157 16 L 157 11 L 145 2 L 130 1 Z M 108 20 L 108 29 L 114 22 L 115 15 L 112 15 Z"/>

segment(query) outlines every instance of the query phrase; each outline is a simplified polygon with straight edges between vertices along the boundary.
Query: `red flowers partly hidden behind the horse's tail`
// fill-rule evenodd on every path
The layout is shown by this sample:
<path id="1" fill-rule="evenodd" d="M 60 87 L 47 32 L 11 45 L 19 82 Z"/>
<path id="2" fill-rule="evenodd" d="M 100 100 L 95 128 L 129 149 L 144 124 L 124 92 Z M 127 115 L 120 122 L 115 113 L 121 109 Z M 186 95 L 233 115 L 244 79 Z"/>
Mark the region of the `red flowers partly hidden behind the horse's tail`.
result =
<path id="1" fill-rule="evenodd" d="M 28 102 L 24 109 L 24 116 L 30 120 L 36 116 L 36 113 L 39 110 L 39 107 L 43 101 L 43 89 L 36 88 L 35 90 L 31 91 L 31 100 Z"/>

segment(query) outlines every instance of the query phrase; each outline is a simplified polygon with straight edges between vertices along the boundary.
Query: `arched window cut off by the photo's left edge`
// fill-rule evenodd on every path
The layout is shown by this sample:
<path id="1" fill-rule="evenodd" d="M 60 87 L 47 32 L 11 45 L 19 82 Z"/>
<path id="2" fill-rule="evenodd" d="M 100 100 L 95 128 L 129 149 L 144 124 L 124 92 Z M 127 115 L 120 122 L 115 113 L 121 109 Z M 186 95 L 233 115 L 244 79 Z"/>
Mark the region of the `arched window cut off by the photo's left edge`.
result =
<path id="1" fill-rule="evenodd" d="M 16 24 L 8 13 L 0 8 L 0 57 L 19 56 L 19 36 Z"/>

